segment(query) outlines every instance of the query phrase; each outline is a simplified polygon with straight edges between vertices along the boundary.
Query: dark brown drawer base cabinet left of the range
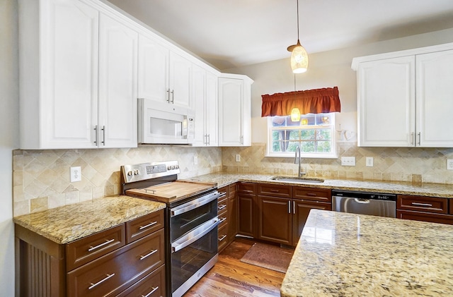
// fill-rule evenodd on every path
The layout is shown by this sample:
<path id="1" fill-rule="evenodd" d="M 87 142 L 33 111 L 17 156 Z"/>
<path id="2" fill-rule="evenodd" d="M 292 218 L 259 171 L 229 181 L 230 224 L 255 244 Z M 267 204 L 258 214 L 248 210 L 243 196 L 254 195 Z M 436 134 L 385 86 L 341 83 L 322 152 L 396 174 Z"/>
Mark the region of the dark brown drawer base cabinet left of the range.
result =
<path id="1" fill-rule="evenodd" d="M 67 244 L 15 231 L 16 296 L 165 296 L 164 210 Z"/>

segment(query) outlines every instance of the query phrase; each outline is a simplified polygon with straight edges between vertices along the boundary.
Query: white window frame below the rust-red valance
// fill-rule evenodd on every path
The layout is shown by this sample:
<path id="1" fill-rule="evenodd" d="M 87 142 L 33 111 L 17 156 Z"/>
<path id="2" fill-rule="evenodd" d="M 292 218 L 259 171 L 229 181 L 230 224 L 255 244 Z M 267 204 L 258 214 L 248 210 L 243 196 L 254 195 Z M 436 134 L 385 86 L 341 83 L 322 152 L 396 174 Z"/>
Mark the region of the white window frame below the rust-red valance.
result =
<path id="1" fill-rule="evenodd" d="M 329 128 L 331 130 L 331 152 L 323 153 L 323 152 L 302 152 L 301 150 L 301 157 L 306 159 L 337 159 L 338 152 L 337 152 L 337 145 L 336 145 L 336 129 L 335 129 L 335 113 L 325 113 L 330 116 L 331 123 L 327 126 L 324 125 L 313 125 L 313 126 L 282 126 L 282 127 L 273 127 L 273 116 L 268 116 L 268 139 L 266 144 L 266 154 L 265 157 L 285 157 L 285 158 L 294 158 L 294 152 L 272 152 L 273 149 L 273 131 L 279 130 L 315 130 L 319 128 Z M 314 115 L 316 114 L 307 114 L 307 115 Z M 301 115 L 304 116 L 304 115 Z"/>

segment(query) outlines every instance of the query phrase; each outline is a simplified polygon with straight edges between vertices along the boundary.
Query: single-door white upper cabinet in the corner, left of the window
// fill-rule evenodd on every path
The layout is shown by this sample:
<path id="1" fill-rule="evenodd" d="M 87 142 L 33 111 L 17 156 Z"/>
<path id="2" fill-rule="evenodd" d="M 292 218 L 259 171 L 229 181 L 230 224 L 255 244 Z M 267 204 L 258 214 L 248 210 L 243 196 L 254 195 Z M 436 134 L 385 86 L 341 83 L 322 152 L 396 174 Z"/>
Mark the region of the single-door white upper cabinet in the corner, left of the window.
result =
<path id="1" fill-rule="evenodd" d="M 219 78 L 219 146 L 251 145 L 251 83 L 245 75 Z"/>

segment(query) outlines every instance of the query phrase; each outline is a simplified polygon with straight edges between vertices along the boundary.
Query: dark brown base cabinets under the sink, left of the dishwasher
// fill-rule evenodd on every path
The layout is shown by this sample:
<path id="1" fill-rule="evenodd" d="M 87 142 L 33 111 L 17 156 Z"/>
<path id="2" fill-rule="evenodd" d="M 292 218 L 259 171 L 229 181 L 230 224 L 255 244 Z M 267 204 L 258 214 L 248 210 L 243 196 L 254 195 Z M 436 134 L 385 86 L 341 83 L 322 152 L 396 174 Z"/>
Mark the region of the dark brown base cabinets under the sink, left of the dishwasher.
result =
<path id="1" fill-rule="evenodd" d="M 331 190 L 239 183 L 239 234 L 296 246 L 311 209 L 332 210 Z"/>

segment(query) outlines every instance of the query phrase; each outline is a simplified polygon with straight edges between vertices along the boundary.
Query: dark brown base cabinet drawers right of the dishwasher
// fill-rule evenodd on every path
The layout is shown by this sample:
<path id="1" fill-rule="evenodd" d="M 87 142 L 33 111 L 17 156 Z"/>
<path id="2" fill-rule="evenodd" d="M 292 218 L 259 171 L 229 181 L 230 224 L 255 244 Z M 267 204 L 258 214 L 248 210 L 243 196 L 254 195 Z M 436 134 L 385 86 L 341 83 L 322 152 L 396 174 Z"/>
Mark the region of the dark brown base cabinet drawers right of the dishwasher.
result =
<path id="1" fill-rule="evenodd" d="M 398 195 L 396 217 L 451 225 L 453 224 L 453 202 L 448 198 Z"/>

